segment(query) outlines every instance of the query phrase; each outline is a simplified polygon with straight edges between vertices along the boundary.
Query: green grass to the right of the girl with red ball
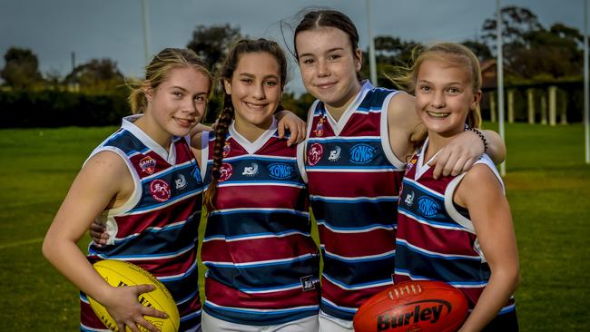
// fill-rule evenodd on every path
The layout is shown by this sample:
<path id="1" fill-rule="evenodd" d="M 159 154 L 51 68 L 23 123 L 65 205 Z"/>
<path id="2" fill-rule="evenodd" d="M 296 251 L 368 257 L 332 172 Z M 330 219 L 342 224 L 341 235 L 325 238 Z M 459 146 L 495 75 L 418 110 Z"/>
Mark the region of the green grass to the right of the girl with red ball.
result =
<path id="1" fill-rule="evenodd" d="M 506 191 L 516 227 L 524 331 L 587 331 L 590 165 L 581 124 L 506 128 Z"/>

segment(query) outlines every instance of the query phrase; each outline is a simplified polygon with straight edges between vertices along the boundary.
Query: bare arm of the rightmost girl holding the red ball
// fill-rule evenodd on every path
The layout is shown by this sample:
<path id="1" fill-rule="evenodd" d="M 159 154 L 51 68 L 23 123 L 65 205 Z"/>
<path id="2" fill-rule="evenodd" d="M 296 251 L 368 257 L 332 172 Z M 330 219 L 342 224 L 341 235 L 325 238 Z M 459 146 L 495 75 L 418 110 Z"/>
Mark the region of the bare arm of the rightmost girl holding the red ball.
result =
<path id="1" fill-rule="evenodd" d="M 455 193 L 455 201 L 469 210 L 479 245 L 491 269 L 491 277 L 476 308 L 460 331 L 485 327 L 514 294 L 519 282 L 518 249 L 512 215 L 502 185 L 485 164 L 467 171 Z"/>

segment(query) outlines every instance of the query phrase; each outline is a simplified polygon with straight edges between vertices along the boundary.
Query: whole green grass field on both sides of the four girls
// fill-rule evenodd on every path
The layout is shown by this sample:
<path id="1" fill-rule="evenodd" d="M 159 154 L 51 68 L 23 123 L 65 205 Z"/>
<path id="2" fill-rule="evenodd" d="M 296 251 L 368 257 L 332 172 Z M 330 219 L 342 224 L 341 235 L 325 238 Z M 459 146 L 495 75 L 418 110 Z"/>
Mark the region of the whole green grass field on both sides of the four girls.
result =
<path id="1" fill-rule="evenodd" d="M 41 243 L 84 159 L 113 130 L 0 131 L 1 330 L 77 330 L 77 290 L 45 261 Z M 509 124 L 506 138 L 505 181 L 523 277 L 516 293 L 521 330 L 588 331 L 590 166 L 583 126 Z"/>

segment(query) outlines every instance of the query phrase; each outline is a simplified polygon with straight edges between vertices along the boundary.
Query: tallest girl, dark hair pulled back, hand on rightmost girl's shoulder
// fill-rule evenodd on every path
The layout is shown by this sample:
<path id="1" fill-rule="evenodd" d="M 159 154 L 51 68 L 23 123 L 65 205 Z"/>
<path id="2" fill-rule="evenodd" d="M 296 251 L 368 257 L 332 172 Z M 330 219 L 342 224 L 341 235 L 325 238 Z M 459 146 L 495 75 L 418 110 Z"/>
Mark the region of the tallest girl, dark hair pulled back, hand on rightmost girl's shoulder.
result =
<path id="1" fill-rule="evenodd" d="M 398 192 L 423 126 L 413 96 L 359 81 L 359 33 L 347 15 L 306 13 L 293 45 L 303 84 L 317 98 L 306 171 L 324 263 L 320 331 L 351 332 L 359 306 L 393 283 Z M 497 133 L 457 135 L 433 161 L 435 176 L 469 169 L 488 148 L 504 160 Z"/>

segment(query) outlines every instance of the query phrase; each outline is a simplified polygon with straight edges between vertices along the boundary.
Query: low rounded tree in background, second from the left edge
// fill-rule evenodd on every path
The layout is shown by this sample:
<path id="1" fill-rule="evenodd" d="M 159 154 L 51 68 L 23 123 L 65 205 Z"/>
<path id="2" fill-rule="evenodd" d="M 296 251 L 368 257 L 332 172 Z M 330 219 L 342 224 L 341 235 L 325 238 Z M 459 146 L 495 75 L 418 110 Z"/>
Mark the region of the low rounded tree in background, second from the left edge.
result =
<path id="1" fill-rule="evenodd" d="M 123 85 L 123 74 L 117 63 L 111 59 L 92 59 L 74 68 L 64 80 L 66 83 L 77 83 L 84 90 L 113 91 Z"/>

